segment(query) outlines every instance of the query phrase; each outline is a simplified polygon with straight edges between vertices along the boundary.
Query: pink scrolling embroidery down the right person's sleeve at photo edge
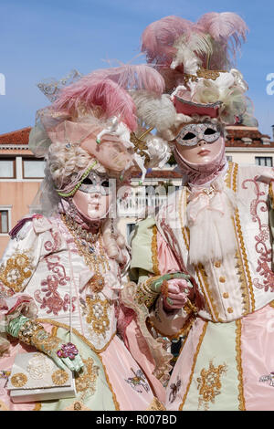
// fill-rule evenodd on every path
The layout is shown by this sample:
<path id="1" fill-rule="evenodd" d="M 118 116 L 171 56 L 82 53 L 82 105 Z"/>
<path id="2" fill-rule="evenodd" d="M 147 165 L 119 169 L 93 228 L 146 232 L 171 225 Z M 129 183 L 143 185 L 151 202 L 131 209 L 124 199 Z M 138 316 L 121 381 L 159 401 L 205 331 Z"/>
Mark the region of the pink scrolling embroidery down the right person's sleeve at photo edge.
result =
<path id="1" fill-rule="evenodd" d="M 274 273 L 270 267 L 272 250 L 268 246 L 269 245 L 269 225 L 262 224 L 260 217 L 258 215 L 258 206 L 260 205 L 261 212 L 268 212 L 269 207 L 267 201 L 264 199 L 260 199 L 260 197 L 264 196 L 266 193 L 261 192 L 259 190 L 259 185 L 256 182 L 258 176 L 256 176 L 253 180 L 248 179 L 243 184 L 243 189 L 248 189 L 246 183 L 253 183 L 255 186 L 256 198 L 250 204 L 250 214 L 252 216 L 252 221 L 258 223 L 259 233 L 255 235 L 256 246 L 255 249 L 259 255 L 258 257 L 258 267 L 257 272 L 261 277 L 263 277 L 263 281 L 260 281 L 258 278 L 254 278 L 253 285 L 255 288 L 264 289 L 265 292 L 268 292 L 269 288 L 271 292 L 274 292 Z"/>

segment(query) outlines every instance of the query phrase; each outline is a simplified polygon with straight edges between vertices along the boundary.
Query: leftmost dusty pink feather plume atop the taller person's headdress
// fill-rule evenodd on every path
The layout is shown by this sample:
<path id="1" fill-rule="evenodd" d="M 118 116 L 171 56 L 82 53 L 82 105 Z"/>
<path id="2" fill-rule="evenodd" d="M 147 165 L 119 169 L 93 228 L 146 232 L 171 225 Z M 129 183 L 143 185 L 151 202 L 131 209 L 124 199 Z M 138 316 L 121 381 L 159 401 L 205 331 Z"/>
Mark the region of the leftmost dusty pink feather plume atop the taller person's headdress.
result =
<path id="1" fill-rule="evenodd" d="M 180 16 L 165 16 L 147 26 L 142 33 L 142 52 L 149 63 L 170 66 L 176 49 L 175 40 L 191 32 L 193 23 Z"/>

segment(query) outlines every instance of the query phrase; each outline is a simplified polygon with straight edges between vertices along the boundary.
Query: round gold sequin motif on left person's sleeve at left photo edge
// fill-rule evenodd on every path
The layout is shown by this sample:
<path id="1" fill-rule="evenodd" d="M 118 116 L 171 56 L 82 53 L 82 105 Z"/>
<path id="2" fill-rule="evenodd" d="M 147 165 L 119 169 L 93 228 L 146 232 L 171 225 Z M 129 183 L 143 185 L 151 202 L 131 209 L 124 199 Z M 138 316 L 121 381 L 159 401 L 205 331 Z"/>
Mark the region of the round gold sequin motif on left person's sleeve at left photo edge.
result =
<path id="1" fill-rule="evenodd" d="M 0 280 L 7 288 L 20 292 L 26 278 L 32 274 L 31 259 L 26 253 L 18 253 L 7 259 L 0 268 Z"/>

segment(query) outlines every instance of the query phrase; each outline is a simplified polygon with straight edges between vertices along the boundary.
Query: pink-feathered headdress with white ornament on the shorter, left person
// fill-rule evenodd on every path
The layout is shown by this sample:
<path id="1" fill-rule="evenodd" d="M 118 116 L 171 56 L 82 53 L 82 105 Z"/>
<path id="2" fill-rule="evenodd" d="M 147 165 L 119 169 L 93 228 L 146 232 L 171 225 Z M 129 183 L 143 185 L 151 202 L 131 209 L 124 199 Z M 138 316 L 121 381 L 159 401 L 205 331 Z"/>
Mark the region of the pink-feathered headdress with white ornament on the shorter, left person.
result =
<path id="1" fill-rule="evenodd" d="M 126 65 L 93 71 L 68 86 L 58 83 L 53 86 L 53 103 L 37 114 L 37 127 L 30 136 L 32 151 L 37 156 L 44 156 L 47 152 L 48 138 L 43 139 L 43 131 L 44 135 L 47 131 L 49 144 L 80 145 L 89 138 L 89 152 L 100 164 L 109 166 L 110 160 L 100 151 L 99 145 L 104 141 L 119 141 L 125 152 L 133 153 L 133 162 L 141 168 L 143 177 L 145 167 L 149 167 L 150 162 L 155 163 L 155 153 L 144 142 L 142 147 L 136 144 L 138 138 L 133 132 L 138 131 L 139 122 L 132 94 L 142 90 L 155 98 L 160 97 L 164 89 L 163 77 L 147 65 Z M 39 85 L 39 88 L 44 92 L 47 89 L 47 94 L 52 93 L 48 85 Z M 148 132 L 142 131 L 143 137 L 146 134 Z M 170 153 L 163 150 L 162 155 L 166 162 Z M 159 153 L 157 156 L 159 162 L 163 161 Z M 128 162 L 128 167 L 131 164 Z M 116 165 L 114 171 L 119 168 Z"/>

